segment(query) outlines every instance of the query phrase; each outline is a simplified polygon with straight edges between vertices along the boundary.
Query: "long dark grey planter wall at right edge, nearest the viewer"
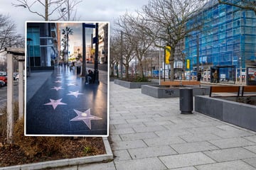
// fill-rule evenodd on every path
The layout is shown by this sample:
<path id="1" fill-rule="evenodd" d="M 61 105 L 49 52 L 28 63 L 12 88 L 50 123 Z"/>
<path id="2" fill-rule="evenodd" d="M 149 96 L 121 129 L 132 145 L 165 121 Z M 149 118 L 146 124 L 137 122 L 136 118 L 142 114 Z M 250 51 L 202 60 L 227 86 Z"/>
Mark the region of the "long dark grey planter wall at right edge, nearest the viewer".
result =
<path id="1" fill-rule="evenodd" d="M 235 102 L 235 98 L 196 96 L 195 111 L 256 131 L 256 106 Z"/>

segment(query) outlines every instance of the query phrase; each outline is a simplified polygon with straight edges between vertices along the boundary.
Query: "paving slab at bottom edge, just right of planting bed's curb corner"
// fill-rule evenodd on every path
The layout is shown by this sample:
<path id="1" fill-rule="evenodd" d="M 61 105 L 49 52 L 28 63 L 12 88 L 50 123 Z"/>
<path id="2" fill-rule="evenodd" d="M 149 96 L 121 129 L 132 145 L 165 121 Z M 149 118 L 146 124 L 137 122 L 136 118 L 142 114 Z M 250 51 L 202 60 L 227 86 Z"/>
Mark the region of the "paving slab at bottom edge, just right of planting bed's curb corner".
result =
<path id="1" fill-rule="evenodd" d="M 158 158 L 134 159 L 114 162 L 117 170 L 164 170 L 166 166 Z"/>

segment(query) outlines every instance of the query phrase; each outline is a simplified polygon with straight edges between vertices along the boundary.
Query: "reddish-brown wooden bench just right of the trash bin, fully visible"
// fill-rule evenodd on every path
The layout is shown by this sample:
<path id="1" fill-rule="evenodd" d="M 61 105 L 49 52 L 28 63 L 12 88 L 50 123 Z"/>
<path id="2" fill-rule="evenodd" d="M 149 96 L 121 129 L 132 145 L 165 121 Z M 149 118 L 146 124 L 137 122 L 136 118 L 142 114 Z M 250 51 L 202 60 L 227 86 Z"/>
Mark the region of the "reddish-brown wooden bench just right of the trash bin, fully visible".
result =
<path id="1" fill-rule="evenodd" d="M 210 86 L 210 94 L 212 97 L 213 93 L 235 93 L 235 96 L 240 94 L 240 86 Z"/>

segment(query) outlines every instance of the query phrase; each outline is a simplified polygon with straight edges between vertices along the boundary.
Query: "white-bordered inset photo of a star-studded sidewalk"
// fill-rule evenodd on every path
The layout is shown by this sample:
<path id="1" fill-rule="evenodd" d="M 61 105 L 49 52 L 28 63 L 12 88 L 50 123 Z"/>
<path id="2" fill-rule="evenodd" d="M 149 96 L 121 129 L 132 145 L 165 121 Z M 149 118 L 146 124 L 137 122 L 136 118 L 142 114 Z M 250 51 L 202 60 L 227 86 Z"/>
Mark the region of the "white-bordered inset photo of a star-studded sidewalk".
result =
<path id="1" fill-rule="evenodd" d="M 26 21 L 26 136 L 108 136 L 109 30 Z"/>

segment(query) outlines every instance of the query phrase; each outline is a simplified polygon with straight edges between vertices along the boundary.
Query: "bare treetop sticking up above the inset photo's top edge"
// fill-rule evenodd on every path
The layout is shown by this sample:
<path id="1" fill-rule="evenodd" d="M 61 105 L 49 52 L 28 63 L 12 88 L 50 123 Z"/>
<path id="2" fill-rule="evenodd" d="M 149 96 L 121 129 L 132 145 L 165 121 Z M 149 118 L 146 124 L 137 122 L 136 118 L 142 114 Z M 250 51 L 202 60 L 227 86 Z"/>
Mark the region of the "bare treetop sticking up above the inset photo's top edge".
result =
<path id="1" fill-rule="evenodd" d="M 38 16 L 41 16 L 44 21 L 57 21 L 61 18 L 65 18 L 68 15 L 70 18 L 71 11 L 75 10 L 80 1 L 76 0 L 41 0 L 29 1 L 29 0 L 16 0 L 17 3 L 13 4 L 16 7 L 27 8 L 31 13 L 35 13 Z M 68 4 L 68 7 L 64 7 Z M 38 9 L 43 8 L 43 11 Z M 60 16 L 56 17 L 57 14 Z M 50 19 L 50 16 L 55 16 L 56 18 Z"/>

